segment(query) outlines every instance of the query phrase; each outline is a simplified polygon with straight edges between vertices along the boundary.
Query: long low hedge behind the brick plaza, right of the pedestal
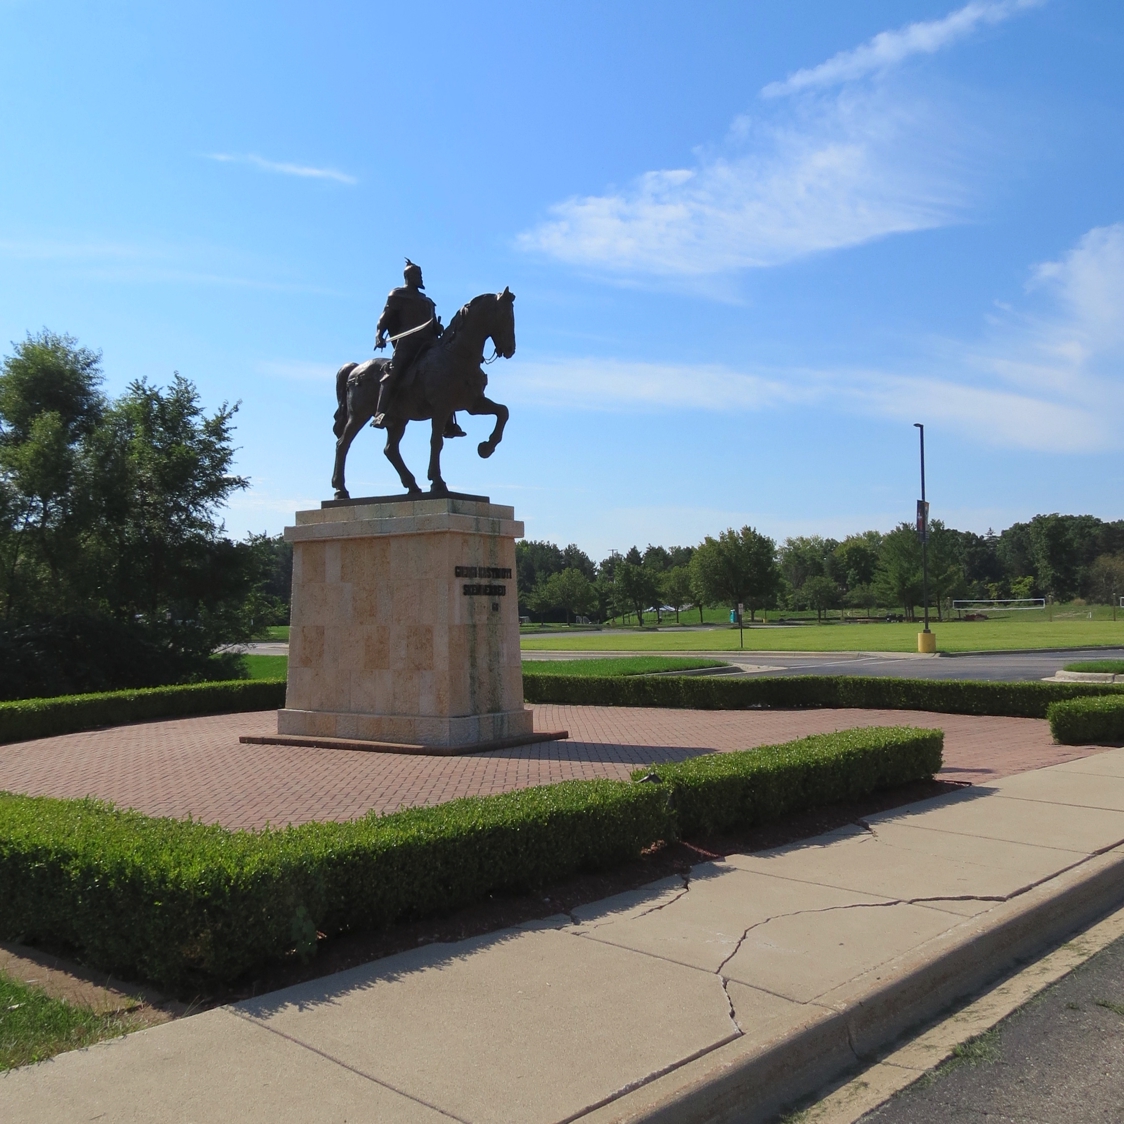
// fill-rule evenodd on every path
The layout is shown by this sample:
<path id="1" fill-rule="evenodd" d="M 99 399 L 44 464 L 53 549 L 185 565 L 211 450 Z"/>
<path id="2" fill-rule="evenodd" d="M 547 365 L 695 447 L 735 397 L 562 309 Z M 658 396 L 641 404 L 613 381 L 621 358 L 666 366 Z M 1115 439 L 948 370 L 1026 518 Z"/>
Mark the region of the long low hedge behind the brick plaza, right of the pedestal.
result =
<path id="1" fill-rule="evenodd" d="M 752 707 L 861 707 L 941 714 L 1044 718 L 1051 703 L 1087 695 L 1124 695 L 1100 683 L 992 683 L 971 679 L 892 679 L 876 676 L 783 676 L 735 679 L 667 676 L 601 679 L 526 676 L 528 703 L 645 706 L 700 710 Z"/>

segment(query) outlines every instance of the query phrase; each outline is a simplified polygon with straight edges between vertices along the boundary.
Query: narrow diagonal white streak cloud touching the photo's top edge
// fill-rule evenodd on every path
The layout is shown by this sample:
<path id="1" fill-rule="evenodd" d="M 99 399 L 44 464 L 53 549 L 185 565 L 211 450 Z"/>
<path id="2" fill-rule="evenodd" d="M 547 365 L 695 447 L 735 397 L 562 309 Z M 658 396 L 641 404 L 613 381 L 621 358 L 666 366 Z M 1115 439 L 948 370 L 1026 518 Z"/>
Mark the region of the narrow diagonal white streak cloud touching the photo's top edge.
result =
<path id="1" fill-rule="evenodd" d="M 909 24 L 895 31 L 880 31 L 868 43 L 852 51 L 841 51 L 827 62 L 798 70 L 783 82 L 770 82 L 761 93 L 777 98 L 817 87 L 839 85 L 876 74 L 905 62 L 910 55 L 932 55 L 942 47 L 971 35 L 980 25 L 1001 24 L 1027 8 L 1037 8 L 1044 0 L 973 0 L 950 12 L 943 19 Z"/>

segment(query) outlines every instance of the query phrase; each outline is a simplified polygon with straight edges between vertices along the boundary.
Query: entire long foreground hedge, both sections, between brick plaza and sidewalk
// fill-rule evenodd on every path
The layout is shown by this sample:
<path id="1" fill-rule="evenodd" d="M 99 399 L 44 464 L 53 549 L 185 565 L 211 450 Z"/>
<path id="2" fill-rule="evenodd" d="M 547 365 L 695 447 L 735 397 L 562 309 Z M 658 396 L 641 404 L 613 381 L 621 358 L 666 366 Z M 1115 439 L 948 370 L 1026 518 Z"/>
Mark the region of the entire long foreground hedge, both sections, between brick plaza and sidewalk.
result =
<path id="1" fill-rule="evenodd" d="M 664 783 L 566 781 L 261 832 L 0 794 L 0 937 L 63 941 L 191 992 L 314 952 L 317 931 L 381 928 L 928 777 L 940 745 L 939 732 L 853 731 L 661 765 Z"/>

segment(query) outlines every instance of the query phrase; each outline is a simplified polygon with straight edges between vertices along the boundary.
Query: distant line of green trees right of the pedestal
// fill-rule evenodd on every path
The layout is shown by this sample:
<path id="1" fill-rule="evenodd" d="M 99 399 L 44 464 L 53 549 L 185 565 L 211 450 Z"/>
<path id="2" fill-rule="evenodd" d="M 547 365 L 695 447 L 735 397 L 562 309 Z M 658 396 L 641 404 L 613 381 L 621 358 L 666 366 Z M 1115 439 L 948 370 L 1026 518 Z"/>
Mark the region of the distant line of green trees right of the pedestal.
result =
<path id="1" fill-rule="evenodd" d="M 1124 596 L 1124 519 L 1036 515 L 996 534 L 928 527 L 930 609 L 942 619 L 960 598 L 1085 598 L 1116 605 Z M 744 605 L 815 611 L 923 608 L 922 545 L 913 524 L 864 531 L 844 540 L 806 535 L 774 540 L 742 527 L 707 535 L 696 546 L 637 546 L 599 564 L 570 544 L 516 544 L 519 611 L 533 619 L 632 619 L 663 611 Z"/>

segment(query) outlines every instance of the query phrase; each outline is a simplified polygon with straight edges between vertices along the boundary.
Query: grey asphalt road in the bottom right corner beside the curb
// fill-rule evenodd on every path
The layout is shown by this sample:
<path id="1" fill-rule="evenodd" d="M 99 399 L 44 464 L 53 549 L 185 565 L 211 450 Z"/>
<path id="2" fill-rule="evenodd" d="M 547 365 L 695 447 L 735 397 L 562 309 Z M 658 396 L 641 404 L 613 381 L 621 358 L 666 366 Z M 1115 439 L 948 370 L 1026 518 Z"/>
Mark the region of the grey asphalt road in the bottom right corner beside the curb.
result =
<path id="1" fill-rule="evenodd" d="M 861 1124 L 1120 1124 L 1124 939 Z"/>

